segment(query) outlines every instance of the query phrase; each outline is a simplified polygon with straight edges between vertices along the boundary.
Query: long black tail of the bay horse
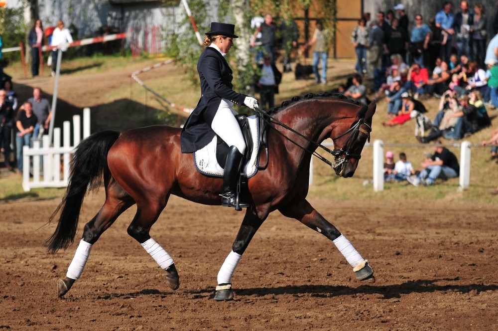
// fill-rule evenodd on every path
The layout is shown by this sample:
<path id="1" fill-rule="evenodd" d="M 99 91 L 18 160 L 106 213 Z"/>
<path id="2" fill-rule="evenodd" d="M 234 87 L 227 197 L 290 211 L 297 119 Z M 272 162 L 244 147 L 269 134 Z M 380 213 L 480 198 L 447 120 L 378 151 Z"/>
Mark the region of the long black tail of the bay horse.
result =
<path id="1" fill-rule="evenodd" d="M 99 187 L 102 174 L 109 174 L 107 154 L 119 136 L 118 131 L 97 132 L 75 148 L 66 193 L 48 221 L 50 224 L 60 212 L 55 232 L 45 241 L 50 253 L 66 249 L 73 243 L 87 189 Z"/>

